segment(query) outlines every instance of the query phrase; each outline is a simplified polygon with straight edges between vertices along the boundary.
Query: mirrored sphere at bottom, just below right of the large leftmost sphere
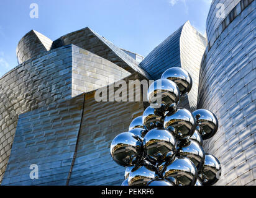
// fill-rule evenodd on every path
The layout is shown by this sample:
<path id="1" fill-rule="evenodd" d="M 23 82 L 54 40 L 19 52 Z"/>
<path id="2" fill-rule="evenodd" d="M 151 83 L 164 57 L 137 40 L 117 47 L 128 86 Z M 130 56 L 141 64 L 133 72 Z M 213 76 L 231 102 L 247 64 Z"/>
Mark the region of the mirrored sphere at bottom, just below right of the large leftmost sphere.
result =
<path id="1" fill-rule="evenodd" d="M 152 179 L 158 178 L 152 166 L 135 166 L 128 177 L 129 186 L 146 186 Z"/>

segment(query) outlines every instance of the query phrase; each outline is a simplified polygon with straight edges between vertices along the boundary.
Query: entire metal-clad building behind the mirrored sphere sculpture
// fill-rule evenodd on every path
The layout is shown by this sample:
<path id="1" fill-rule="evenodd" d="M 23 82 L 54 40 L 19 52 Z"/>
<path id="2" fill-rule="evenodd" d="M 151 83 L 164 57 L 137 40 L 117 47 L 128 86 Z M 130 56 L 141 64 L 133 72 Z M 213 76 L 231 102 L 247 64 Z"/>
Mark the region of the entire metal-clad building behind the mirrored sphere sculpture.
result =
<path id="1" fill-rule="evenodd" d="M 220 3 L 224 18 L 216 17 Z M 249 0 L 213 1 L 207 39 L 186 22 L 138 61 L 90 28 L 55 41 L 27 33 L 16 50 L 19 65 L 0 79 L 1 184 L 120 185 L 125 168 L 112 160 L 111 141 L 149 104 L 143 90 L 140 101 L 127 94 L 99 102 L 95 95 L 121 81 L 149 84 L 178 66 L 193 78 L 180 106 L 206 108 L 219 120 L 217 134 L 204 142 L 222 164 L 217 185 L 254 185 L 255 7 Z M 31 165 L 38 179 L 30 178 Z"/>

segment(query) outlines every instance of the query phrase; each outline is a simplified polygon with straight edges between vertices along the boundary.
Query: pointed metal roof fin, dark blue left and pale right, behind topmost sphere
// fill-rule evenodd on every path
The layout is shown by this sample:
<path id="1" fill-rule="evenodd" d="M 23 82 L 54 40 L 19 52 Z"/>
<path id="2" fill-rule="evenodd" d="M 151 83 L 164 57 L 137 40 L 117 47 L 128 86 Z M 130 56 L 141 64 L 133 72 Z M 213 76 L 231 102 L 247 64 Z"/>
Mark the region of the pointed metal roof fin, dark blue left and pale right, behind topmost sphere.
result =
<path id="1" fill-rule="evenodd" d="M 187 21 L 153 49 L 140 63 L 140 67 L 149 72 L 154 80 L 160 79 L 170 67 L 186 69 L 193 79 L 193 88 L 180 106 L 193 110 L 197 104 L 199 68 L 205 48 L 206 38 Z"/>

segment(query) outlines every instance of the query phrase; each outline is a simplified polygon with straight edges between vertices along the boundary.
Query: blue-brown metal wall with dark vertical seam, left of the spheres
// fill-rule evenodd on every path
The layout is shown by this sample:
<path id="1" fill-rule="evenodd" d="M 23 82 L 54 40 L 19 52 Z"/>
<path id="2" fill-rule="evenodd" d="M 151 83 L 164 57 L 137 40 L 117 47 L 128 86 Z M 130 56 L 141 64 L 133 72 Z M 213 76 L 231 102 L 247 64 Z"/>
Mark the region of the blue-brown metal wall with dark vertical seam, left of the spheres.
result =
<path id="1" fill-rule="evenodd" d="M 122 80 L 136 79 L 145 78 L 135 72 Z M 124 168 L 109 147 L 142 115 L 144 103 L 97 102 L 95 92 L 20 114 L 2 185 L 120 185 Z M 30 179 L 32 164 L 38 179 Z"/>

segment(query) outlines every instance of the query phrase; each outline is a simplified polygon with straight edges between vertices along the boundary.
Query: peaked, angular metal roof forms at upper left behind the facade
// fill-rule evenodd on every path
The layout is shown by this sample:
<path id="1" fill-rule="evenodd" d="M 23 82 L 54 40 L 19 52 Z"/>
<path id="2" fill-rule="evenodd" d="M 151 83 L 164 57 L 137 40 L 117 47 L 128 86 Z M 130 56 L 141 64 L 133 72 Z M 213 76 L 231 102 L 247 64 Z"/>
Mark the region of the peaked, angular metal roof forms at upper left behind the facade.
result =
<path id="1" fill-rule="evenodd" d="M 101 56 L 130 73 L 139 72 L 148 79 L 151 79 L 149 73 L 139 67 L 139 62 L 88 27 L 68 33 L 55 41 L 50 40 L 35 30 L 31 30 L 19 41 L 16 49 L 17 61 L 21 64 L 45 51 L 70 44 Z"/>

